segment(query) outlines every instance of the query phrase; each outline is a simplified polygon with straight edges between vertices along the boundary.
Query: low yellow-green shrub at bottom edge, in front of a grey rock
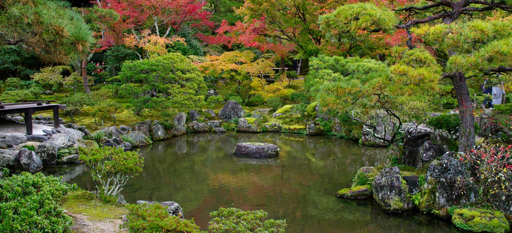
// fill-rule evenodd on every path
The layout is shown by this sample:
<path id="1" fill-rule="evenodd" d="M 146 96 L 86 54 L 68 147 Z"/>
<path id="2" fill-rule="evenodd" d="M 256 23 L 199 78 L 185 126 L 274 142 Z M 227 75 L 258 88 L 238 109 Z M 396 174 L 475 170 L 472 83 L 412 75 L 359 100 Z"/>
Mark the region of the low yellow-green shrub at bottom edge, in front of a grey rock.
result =
<path id="1" fill-rule="evenodd" d="M 128 221 L 124 222 L 123 227 L 127 227 L 130 232 L 200 232 L 193 219 L 185 220 L 169 215 L 167 208 L 161 204 L 131 204 L 125 207 L 130 213 L 126 215 Z"/>

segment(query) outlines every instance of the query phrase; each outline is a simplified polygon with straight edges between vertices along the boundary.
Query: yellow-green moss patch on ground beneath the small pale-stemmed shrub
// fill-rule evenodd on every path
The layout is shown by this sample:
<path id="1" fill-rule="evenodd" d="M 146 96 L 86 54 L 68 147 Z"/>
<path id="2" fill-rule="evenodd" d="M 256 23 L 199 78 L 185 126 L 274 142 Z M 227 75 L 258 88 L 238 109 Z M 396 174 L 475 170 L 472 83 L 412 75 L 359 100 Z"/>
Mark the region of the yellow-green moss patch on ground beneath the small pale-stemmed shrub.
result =
<path id="1" fill-rule="evenodd" d="M 91 221 L 119 219 L 128 213 L 124 207 L 102 203 L 94 194 L 86 190 L 78 190 L 68 194 L 64 199 L 62 208 L 73 214 L 87 216 Z"/>

